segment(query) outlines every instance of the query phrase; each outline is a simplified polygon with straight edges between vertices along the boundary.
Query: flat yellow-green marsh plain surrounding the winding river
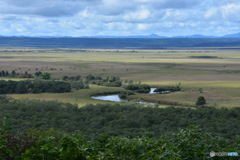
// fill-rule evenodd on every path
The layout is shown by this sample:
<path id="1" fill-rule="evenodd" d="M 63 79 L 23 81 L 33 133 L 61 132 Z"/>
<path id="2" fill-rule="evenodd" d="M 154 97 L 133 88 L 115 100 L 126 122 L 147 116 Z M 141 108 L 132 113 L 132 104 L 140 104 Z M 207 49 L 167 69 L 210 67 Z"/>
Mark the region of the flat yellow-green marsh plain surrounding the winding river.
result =
<path id="1" fill-rule="evenodd" d="M 240 106 L 240 54 L 229 49 L 175 50 L 77 50 L 77 49 L 1 49 L 0 70 L 35 73 L 50 72 L 53 78 L 64 75 L 117 75 L 121 79 L 151 86 L 176 85 L 182 92 L 165 95 L 135 95 L 133 99 L 179 102 L 194 105 L 204 96 L 209 106 Z M 216 58 L 191 58 L 215 56 Z M 199 92 L 203 89 L 203 93 Z M 91 86 L 89 90 L 64 94 L 11 95 L 14 98 L 60 100 L 83 106 L 87 103 L 110 103 L 92 100 L 89 95 L 120 91 L 121 88 Z"/>

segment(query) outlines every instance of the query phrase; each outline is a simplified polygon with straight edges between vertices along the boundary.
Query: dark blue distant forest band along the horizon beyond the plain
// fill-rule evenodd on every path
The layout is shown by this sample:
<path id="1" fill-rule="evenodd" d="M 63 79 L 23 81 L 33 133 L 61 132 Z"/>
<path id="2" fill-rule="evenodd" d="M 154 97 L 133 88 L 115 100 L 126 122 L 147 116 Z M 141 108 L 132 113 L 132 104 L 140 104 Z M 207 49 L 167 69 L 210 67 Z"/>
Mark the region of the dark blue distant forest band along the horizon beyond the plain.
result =
<path id="1" fill-rule="evenodd" d="M 0 37 L 0 46 L 39 48 L 239 47 L 240 38 L 30 38 Z M 231 48 L 230 48 L 231 49 Z"/>

